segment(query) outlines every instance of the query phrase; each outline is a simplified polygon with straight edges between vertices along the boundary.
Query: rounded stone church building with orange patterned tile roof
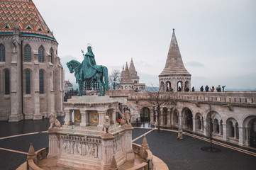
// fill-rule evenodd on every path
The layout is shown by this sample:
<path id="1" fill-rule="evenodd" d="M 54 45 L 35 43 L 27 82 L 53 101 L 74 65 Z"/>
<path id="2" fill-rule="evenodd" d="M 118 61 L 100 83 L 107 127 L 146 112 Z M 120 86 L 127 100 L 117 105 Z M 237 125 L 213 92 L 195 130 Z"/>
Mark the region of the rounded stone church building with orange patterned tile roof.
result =
<path id="1" fill-rule="evenodd" d="M 0 1 L 0 120 L 62 115 L 58 43 L 30 0 Z"/>

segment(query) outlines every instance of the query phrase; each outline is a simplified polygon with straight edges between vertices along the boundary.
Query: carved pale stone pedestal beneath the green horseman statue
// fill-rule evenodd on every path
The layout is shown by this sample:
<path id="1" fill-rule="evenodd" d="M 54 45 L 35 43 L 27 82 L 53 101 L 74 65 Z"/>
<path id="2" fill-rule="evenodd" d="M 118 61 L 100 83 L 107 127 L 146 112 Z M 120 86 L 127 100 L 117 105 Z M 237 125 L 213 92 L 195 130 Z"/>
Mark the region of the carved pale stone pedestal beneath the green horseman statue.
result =
<path id="1" fill-rule="evenodd" d="M 66 123 L 48 130 L 49 159 L 57 157 L 57 165 L 69 169 L 109 169 L 113 156 L 118 166 L 134 160 L 133 128 L 116 123 L 117 101 L 108 96 L 83 96 L 64 104 Z M 105 115 L 110 120 L 108 133 Z"/>

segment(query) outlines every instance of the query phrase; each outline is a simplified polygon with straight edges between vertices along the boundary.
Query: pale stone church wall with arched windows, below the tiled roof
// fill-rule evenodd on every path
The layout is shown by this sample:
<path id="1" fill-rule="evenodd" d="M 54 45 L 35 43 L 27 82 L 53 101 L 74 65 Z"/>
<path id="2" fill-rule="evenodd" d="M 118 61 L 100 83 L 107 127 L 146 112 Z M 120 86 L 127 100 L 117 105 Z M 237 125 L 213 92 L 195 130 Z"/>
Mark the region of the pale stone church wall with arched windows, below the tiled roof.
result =
<path id="1" fill-rule="evenodd" d="M 23 44 L 23 113 L 26 119 L 48 117 L 50 113 L 62 114 L 64 71 L 57 57 L 57 42 L 44 38 L 19 37 Z M 6 50 L 6 61 L 0 62 L 0 120 L 8 120 L 11 113 L 13 121 L 21 120 L 21 44 L 17 52 L 13 52 L 13 36 L 0 36 L 0 44 Z M 31 47 L 31 62 L 25 62 L 25 46 Z M 38 48 L 43 45 L 44 62 L 38 62 Z M 54 53 L 53 63 L 50 62 L 50 49 Z M 14 64 L 13 64 L 14 62 Z M 12 64 L 11 64 L 12 63 Z M 10 91 L 5 94 L 4 71 L 10 72 Z M 30 94 L 26 94 L 25 72 L 30 71 Z M 39 72 L 44 72 L 44 94 L 39 94 Z M 55 72 L 59 78 L 54 76 Z M 54 79 L 55 78 L 55 79 Z M 54 82 L 55 81 L 55 82 Z M 13 86 L 15 84 L 16 86 Z M 55 88 L 57 87 L 57 88 Z M 57 101 L 56 101 L 57 100 Z M 55 103 L 60 103 L 55 107 Z M 13 110 L 13 106 L 15 110 Z M 18 116 L 18 117 L 17 117 Z"/>

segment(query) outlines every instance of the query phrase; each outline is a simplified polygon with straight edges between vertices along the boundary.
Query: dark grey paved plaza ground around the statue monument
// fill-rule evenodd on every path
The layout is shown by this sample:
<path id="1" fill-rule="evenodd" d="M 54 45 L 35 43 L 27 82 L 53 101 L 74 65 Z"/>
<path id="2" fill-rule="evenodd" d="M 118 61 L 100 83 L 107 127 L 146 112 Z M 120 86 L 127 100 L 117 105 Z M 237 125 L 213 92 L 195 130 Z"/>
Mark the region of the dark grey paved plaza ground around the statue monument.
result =
<path id="1" fill-rule="evenodd" d="M 59 118 L 59 120 L 63 122 L 63 118 Z M 26 120 L 19 123 L 0 122 L 0 169 L 16 169 L 25 162 L 30 142 L 33 142 L 35 150 L 48 147 L 48 135 L 45 130 L 48 130 L 49 126 L 48 119 Z M 184 135 L 184 140 L 177 140 L 175 128 L 172 130 L 165 128 L 157 132 L 157 130 L 152 130 L 155 126 L 148 123 L 135 124 L 133 127 L 134 142 L 141 145 L 143 135 L 148 132 L 146 137 L 150 150 L 155 156 L 162 159 L 169 169 L 254 170 L 256 167 L 256 152 L 253 149 L 247 150 L 252 151 L 255 156 L 242 152 L 247 151 L 242 150 L 245 149 L 243 147 L 219 142 L 213 147 L 221 149 L 221 152 L 209 153 L 201 150 L 201 147 L 209 146 L 209 142 L 204 140 L 206 138 L 198 135 L 187 133 Z M 27 133 L 33 134 L 28 135 Z M 184 133 L 186 134 L 186 132 Z M 12 135 L 20 136 L 9 137 Z"/>

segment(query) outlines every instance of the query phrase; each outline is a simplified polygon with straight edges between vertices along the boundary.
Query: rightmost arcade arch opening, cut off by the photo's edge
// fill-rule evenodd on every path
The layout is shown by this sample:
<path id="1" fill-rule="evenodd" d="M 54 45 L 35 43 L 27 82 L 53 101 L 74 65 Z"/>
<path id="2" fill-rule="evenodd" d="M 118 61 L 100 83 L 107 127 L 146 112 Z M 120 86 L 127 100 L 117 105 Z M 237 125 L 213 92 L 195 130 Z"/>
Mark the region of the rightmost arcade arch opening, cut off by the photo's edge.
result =
<path id="1" fill-rule="evenodd" d="M 256 148 L 256 115 L 247 115 L 243 120 L 243 141 L 245 145 Z"/>

